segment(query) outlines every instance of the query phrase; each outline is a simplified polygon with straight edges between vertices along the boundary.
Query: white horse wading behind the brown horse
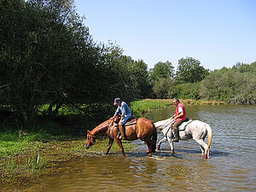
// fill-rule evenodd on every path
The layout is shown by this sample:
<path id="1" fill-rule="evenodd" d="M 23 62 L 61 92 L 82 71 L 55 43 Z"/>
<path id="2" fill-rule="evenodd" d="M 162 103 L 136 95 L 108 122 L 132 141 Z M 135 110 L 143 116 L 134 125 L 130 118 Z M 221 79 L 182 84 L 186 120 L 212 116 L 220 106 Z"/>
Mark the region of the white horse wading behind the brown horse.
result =
<path id="1" fill-rule="evenodd" d="M 171 125 L 174 123 L 174 121 L 175 119 L 165 119 L 154 123 L 156 129 L 162 131 L 165 136 L 158 143 L 158 150 L 160 149 L 160 144 L 166 142 L 167 140 L 170 144 L 172 154 L 175 154 L 173 146 L 173 133 L 171 128 Z M 204 142 L 206 137 L 208 137 L 207 143 Z M 187 125 L 184 131 L 179 131 L 179 140 L 189 140 L 190 138 L 193 138 L 195 142 L 200 144 L 201 154 L 204 155 L 204 158 L 209 158 L 210 145 L 212 143 L 211 126 L 201 122 L 200 120 L 193 120 Z"/>

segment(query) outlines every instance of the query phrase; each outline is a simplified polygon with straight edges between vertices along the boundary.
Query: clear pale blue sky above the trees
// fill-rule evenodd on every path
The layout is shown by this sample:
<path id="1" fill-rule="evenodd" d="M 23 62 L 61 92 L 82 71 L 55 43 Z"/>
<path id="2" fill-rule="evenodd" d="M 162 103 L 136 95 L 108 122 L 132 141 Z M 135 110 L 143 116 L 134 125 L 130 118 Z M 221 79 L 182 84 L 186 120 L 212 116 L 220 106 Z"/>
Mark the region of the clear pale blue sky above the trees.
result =
<path id="1" fill-rule="evenodd" d="M 148 68 L 193 57 L 210 70 L 256 61 L 256 0 L 74 0 L 94 41 Z"/>

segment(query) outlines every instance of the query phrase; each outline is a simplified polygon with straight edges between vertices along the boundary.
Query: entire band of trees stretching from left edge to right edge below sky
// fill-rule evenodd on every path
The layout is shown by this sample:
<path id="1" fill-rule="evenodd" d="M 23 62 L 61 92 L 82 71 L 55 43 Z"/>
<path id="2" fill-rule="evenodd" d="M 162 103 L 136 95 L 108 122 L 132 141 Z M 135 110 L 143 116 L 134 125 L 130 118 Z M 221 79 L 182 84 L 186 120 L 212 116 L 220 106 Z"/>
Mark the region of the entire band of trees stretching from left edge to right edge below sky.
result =
<path id="1" fill-rule="evenodd" d="M 63 106 L 104 118 L 113 98 L 215 99 L 254 104 L 255 62 L 210 72 L 186 57 L 148 70 L 113 42 L 96 43 L 73 0 L 0 0 L 0 109 L 20 122 Z"/>

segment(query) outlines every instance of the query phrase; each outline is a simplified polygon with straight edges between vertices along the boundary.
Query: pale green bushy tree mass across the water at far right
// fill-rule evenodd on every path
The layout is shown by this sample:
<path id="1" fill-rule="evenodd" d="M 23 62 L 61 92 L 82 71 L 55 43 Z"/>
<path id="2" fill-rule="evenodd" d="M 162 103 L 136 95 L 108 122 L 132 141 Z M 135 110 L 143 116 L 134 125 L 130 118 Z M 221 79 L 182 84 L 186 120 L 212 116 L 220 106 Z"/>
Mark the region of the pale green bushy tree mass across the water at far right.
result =
<path id="1" fill-rule="evenodd" d="M 223 67 L 210 73 L 201 81 L 201 98 L 239 104 L 255 104 L 256 78 L 253 68 L 248 65 L 242 66 L 238 67 L 238 70 L 236 67 Z M 245 72 L 245 69 L 249 72 Z"/>

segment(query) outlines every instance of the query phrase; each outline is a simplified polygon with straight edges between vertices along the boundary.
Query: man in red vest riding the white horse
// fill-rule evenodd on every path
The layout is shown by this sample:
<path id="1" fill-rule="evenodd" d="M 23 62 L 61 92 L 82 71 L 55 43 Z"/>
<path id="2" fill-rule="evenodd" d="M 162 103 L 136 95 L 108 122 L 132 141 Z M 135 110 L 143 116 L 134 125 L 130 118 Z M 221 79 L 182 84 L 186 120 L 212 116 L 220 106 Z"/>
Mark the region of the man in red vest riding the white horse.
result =
<path id="1" fill-rule="evenodd" d="M 187 119 L 186 109 L 183 103 L 179 102 L 177 98 L 174 98 L 172 103 L 176 105 L 175 114 L 171 117 L 171 119 L 175 119 L 174 124 L 172 125 L 174 131 L 174 140 L 173 142 L 178 142 L 178 129 L 177 127 L 181 125 Z"/>

